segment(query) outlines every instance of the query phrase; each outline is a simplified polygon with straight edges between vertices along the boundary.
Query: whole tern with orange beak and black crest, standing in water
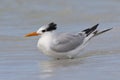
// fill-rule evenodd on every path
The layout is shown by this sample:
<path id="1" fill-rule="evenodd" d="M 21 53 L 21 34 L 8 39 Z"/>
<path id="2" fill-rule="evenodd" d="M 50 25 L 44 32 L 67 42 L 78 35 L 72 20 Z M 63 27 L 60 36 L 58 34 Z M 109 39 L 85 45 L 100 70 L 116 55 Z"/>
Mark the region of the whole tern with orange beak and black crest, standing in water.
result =
<path id="1" fill-rule="evenodd" d="M 113 28 L 99 31 L 99 24 L 84 29 L 76 34 L 57 33 L 57 24 L 51 22 L 41 26 L 37 31 L 25 35 L 25 37 L 39 36 L 37 43 L 38 49 L 45 55 L 54 59 L 73 59 L 86 44 L 95 36 L 110 31 Z"/>

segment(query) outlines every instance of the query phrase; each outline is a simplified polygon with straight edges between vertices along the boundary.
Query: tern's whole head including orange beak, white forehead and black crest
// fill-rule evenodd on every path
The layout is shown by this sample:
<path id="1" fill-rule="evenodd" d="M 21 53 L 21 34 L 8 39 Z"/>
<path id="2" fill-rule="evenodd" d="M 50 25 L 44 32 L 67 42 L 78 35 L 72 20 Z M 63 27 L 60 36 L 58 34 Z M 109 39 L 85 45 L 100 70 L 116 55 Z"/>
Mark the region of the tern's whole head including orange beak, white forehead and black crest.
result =
<path id="1" fill-rule="evenodd" d="M 30 36 L 38 36 L 38 35 L 42 35 L 46 32 L 51 32 L 51 31 L 54 31 L 57 29 L 57 24 L 55 23 L 49 23 L 48 25 L 44 25 L 42 27 L 40 27 L 36 32 L 32 32 L 32 33 L 29 33 L 29 34 L 26 34 L 25 36 L 26 37 L 30 37 Z"/>

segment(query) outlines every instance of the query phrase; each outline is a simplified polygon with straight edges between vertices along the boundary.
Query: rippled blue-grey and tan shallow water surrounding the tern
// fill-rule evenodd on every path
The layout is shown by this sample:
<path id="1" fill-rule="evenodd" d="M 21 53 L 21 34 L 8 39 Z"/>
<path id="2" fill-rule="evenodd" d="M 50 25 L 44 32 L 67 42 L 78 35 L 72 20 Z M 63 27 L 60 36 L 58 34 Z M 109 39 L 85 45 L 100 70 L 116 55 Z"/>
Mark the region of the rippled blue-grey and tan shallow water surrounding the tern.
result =
<path id="1" fill-rule="evenodd" d="M 0 80 L 119 80 L 119 14 L 118 0 L 1 0 Z M 58 61 L 38 51 L 38 37 L 24 37 L 49 22 L 60 32 L 97 23 L 114 29 L 93 39 L 79 58 Z"/>

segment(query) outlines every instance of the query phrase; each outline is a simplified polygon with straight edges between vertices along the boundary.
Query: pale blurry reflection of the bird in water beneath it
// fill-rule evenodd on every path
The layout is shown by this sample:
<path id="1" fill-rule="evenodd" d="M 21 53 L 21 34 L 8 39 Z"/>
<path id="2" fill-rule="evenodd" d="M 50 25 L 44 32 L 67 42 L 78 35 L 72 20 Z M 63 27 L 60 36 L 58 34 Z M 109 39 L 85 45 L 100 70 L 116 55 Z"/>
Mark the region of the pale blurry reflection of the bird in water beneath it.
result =
<path id="1" fill-rule="evenodd" d="M 82 58 L 76 59 L 64 59 L 64 60 L 48 60 L 40 62 L 40 71 L 42 72 L 42 78 L 49 78 L 55 75 L 55 73 L 62 69 L 68 68 L 76 65 L 80 65 L 83 63 Z"/>

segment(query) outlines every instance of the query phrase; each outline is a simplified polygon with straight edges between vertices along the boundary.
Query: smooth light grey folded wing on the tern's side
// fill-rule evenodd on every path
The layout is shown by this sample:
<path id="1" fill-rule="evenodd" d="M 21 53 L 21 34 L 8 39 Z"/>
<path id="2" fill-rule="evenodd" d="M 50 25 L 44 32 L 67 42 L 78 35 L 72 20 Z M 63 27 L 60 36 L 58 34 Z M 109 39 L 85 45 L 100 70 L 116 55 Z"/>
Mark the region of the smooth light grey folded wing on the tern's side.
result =
<path id="1" fill-rule="evenodd" d="M 71 51 L 83 43 L 84 35 L 60 34 L 54 37 L 51 49 L 56 52 Z"/>

